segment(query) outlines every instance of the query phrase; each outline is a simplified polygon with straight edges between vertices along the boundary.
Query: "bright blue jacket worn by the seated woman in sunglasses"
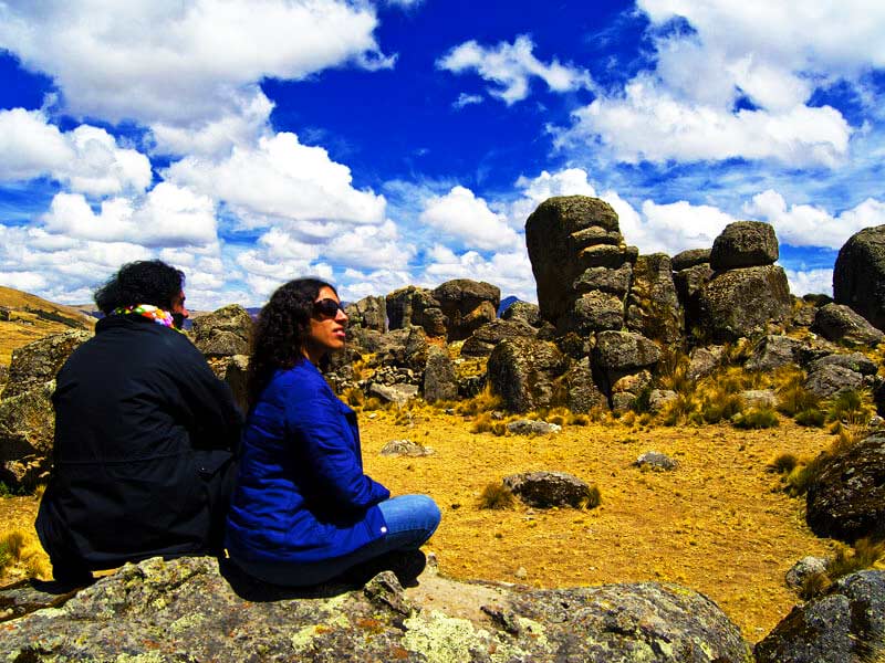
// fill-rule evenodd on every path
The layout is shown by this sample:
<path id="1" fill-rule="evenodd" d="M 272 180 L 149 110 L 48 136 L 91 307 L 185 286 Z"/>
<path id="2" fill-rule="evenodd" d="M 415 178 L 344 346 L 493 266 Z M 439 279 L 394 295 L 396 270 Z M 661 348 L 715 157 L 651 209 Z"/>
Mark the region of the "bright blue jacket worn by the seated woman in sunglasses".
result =
<path id="1" fill-rule="evenodd" d="M 306 562 L 387 530 L 391 492 L 363 473 L 354 411 L 306 359 L 278 370 L 252 408 L 228 515 L 233 559 Z"/>

